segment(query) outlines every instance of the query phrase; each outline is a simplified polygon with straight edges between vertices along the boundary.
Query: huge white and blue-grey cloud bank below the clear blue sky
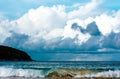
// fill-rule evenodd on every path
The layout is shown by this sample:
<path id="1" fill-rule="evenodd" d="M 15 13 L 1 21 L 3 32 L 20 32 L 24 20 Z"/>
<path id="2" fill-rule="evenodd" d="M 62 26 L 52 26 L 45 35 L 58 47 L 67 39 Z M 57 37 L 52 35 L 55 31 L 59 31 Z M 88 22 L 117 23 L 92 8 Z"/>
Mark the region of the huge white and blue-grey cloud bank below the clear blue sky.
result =
<path id="1" fill-rule="evenodd" d="M 65 5 L 40 6 L 30 9 L 19 19 L 0 20 L 0 44 L 25 50 L 37 59 L 45 52 L 45 56 L 51 60 L 55 56 L 62 57 L 59 55 L 61 52 L 119 51 L 120 11 L 100 12 L 101 3 L 102 0 L 91 0 L 85 5 L 77 5 L 78 9 L 69 12 Z M 47 55 L 50 53 L 55 54 Z M 88 56 L 91 60 L 99 59 L 97 55 L 93 58 L 92 55 Z M 80 56 L 81 59 L 76 55 L 74 59 L 72 56 L 67 58 L 84 60 L 87 56 Z"/>

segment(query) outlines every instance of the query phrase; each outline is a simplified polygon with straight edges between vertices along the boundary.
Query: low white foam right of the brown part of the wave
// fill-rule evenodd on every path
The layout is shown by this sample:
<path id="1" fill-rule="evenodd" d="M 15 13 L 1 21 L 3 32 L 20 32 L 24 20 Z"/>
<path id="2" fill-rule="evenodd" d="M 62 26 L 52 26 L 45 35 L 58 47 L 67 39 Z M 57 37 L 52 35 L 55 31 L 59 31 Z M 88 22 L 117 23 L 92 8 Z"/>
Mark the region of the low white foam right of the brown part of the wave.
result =
<path id="1" fill-rule="evenodd" d="M 75 76 L 75 78 L 80 78 L 80 77 L 115 77 L 118 78 L 120 77 L 120 70 L 115 70 L 115 71 L 103 71 L 99 73 L 90 73 L 90 74 L 78 74 Z"/>

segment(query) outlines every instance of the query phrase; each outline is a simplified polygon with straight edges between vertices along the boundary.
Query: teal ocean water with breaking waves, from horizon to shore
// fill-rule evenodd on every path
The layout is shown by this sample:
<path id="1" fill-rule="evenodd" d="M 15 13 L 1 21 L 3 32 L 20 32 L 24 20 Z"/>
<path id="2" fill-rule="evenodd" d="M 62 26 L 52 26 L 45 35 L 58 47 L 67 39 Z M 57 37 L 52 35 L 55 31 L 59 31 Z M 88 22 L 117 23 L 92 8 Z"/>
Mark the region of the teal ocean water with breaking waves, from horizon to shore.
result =
<path id="1" fill-rule="evenodd" d="M 50 73 L 74 74 L 73 78 L 120 78 L 119 61 L 0 62 L 0 79 L 49 79 Z M 54 79 L 54 78 L 53 78 Z"/>

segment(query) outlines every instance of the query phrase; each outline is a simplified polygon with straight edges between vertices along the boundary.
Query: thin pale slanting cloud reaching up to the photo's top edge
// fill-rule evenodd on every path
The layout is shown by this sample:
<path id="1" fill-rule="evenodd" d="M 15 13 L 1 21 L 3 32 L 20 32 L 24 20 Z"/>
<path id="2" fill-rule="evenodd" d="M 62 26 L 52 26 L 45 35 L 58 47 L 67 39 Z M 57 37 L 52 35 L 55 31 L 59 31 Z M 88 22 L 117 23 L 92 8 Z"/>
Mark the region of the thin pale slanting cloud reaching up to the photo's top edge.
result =
<path id="1" fill-rule="evenodd" d="M 103 0 L 91 0 L 91 2 L 83 5 L 83 6 L 78 6 L 79 9 L 73 10 L 69 12 L 68 18 L 73 19 L 73 18 L 86 18 L 88 16 L 93 16 L 93 14 L 98 14 L 97 13 L 97 8 L 99 5 L 103 2 Z"/>

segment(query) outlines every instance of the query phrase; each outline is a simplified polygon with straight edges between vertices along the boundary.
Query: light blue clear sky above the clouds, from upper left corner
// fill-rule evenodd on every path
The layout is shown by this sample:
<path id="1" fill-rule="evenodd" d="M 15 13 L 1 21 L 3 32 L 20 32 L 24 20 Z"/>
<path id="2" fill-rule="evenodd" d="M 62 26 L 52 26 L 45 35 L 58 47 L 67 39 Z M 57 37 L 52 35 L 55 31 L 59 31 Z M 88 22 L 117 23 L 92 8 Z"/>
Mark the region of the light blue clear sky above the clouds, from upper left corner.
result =
<path id="1" fill-rule="evenodd" d="M 71 6 L 74 4 L 86 3 L 90 0 L 0 0 L 0 12 L 10 20 L 17 19 L 25 14 L 31 8 L 39 6 L 65 5 Z M 67 8 L 66 11 L 71 11 L 75 8 Z"/>

